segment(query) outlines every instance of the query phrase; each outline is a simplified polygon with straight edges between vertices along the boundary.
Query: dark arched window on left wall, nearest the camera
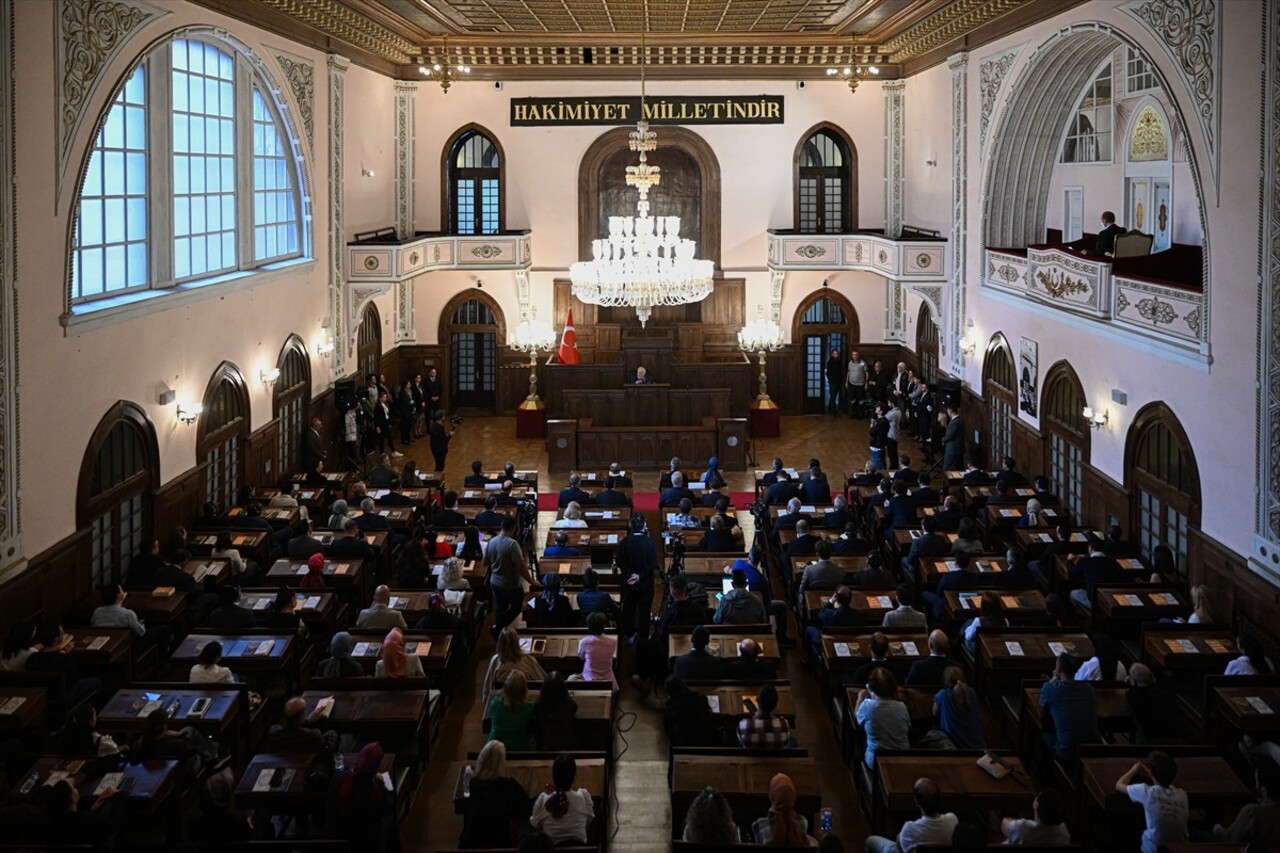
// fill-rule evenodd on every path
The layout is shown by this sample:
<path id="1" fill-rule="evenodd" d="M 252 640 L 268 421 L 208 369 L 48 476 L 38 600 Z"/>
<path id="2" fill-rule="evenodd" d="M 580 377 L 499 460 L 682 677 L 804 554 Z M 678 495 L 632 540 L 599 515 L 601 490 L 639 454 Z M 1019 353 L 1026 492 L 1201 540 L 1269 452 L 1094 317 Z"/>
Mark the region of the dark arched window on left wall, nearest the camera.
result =
<path id="1" fill-rule="evenodd" d="M 151 496 L 159 487 L 151 419 L 134 403 L 115 403 L 93 430 L 76 493 L 76 526 L 90 530 L 95 587 L 124 581 L 151 529 Z"/>

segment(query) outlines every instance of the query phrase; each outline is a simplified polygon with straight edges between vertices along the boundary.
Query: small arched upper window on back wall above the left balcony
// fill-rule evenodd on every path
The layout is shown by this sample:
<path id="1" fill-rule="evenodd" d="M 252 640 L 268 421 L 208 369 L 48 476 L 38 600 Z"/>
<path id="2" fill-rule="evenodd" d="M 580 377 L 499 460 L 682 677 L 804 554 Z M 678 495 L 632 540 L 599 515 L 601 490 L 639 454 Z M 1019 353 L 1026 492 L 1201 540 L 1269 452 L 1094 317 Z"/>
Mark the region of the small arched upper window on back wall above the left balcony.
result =
<path id="1" fill-rule="evenodd" d="M 493 137 L 466 128 L 445 149 L 447 222 L 454 234 L 497 234 L 502 209 L 503 156 Z"/>

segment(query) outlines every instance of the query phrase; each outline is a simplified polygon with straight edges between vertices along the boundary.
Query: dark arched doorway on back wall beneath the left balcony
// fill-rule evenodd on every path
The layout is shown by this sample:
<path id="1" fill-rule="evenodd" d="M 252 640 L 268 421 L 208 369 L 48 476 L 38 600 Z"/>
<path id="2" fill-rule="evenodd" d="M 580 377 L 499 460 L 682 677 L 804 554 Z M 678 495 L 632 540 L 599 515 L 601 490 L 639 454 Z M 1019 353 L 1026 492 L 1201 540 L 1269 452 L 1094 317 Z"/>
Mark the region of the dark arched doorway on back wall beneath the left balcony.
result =
<path id="1" fill-rule="evenodd" d="M 449 406 L 495 410 L 498 346 L 507 339 L 502 309 L 483 291 L 465 291 L 444 306 L 440 325 L 449 343 Z"/>

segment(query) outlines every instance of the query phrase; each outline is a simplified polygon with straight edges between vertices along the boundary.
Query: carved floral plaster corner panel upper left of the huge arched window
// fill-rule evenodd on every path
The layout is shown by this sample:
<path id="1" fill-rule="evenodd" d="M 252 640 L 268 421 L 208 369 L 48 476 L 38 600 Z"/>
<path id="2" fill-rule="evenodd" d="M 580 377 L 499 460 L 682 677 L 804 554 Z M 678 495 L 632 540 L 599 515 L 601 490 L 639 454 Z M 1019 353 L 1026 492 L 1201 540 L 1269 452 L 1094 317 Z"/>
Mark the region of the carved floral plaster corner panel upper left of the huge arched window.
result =
<path id="1" fill-rule="evenodd" d="M 124 45 L 152 20 L 169 14 L 142 0 L 58 0 L 54 23 L 55 150 L 58 173 L 54 202 L 61 197 L 72 143 L 102 83 L 102 70 Z M 74 179 L 74 178 L 73 178 Z"/>

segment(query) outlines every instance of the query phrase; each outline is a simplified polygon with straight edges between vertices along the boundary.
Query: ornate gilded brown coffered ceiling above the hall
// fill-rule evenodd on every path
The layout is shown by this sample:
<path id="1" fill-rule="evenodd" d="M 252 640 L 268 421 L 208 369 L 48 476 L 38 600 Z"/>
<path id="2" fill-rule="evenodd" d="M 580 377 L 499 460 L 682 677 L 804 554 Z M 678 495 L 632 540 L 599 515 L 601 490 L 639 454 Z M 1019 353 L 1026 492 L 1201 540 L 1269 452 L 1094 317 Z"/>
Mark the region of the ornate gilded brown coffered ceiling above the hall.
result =
<path id="1" fill-rule="evenodd" d="M 884 77 L 1084 0 L 193 0 L 387 74 L 443 58 L 477 79 L 818 78 L 851 60 Z"/>

